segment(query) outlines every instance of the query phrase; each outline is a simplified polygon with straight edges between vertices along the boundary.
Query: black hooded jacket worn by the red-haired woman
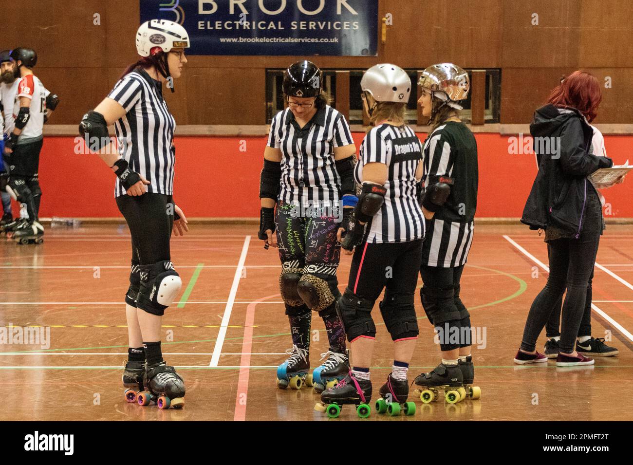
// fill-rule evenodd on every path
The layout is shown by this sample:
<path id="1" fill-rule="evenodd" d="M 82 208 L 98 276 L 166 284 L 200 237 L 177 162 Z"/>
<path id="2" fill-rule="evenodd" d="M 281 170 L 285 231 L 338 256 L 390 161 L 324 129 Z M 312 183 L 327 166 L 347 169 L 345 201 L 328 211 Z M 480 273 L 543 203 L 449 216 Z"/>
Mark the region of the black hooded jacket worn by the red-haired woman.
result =
<path id="1" fill-rule="evenodd" d="M 521 222 L 534 230 L 555 226 L 569 237 L 578 237 L 587 192 L 592 189 L 587 176 L 599 168 L 610 168 L 613 161 L 589 154 L 593 130 L 577 109 L 551 104 L 537 109 L 530 133 L 539 172 Z"/>

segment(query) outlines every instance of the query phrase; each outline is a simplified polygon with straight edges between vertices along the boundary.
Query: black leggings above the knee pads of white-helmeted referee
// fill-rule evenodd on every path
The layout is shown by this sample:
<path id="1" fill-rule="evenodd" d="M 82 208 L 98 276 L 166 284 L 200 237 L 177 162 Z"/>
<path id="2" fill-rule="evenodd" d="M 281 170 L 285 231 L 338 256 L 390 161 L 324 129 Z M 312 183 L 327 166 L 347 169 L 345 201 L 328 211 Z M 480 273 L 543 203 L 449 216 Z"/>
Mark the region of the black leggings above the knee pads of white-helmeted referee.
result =
<path id="1" fill-rule="evenodd" d="M 132 234 L 132 266 L 170 261 L 169 240 L 173 227 L 171 195 L 120 195 L 116 206 Z"/>

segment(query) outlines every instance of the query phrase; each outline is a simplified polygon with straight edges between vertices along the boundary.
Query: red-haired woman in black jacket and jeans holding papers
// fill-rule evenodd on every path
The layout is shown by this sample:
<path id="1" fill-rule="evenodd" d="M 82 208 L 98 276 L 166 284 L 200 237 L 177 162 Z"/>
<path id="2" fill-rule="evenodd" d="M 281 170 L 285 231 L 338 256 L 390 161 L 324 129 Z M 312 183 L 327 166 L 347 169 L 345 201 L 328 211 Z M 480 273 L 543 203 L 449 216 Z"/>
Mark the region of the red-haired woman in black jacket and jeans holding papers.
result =
<path id="1" fill-rule="evenodd" d="M 591 154 L 591 123 L 602 100 L 598 80 L 575 71 L 554 89 L 548 104 L 536 110 L 530 125 L 539 171 L 523 210 L 522 223 L 544 229 L 549 245 L 549 277 L 525 322 L 515 363 L 543 363 L 536 340 L 567 288 L 556 366 L 591 365 L 574 349 L 603 230 L 598 191 L 588 179 L 610 158 Z"/>

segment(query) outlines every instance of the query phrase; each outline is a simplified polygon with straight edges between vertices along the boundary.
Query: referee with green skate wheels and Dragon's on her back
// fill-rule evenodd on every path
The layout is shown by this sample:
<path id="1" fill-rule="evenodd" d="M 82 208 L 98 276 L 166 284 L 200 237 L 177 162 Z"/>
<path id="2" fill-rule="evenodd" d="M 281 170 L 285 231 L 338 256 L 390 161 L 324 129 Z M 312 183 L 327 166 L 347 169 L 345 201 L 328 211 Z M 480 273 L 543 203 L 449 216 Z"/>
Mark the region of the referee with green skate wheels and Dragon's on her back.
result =
<path id="1" fill-rule="evenodd" d="M 394 362 L 376 406 L 384 413 L 392 402 L 392 412 L 403 406 L 406 414 L 415 413 L 415 404 L 406 402 L 407 376 L 418 337 L 414 294 L 425 221 L 418 201 L 422 142 L 404 119 L 411 87 L 408 74 L 388 63 L 372 66 L 361 80 L 363 108 L 374 127 L 363 140 L 354 172 L 362 189 L 353 229 L 341 245 L 348 254 L 354 251 L 354 257 L 348 287 L 337 301 L 353 366 L 342 383 L 323 392 L 322 404 L 316 404 L 320 411 L 329 406 L 330 416 L 337 414 L 333 404 L 356 404 L 359 416 L 369 414 L 376 336 L 372 309 L 383 289 L 380 313 L 394 341 Z"/>

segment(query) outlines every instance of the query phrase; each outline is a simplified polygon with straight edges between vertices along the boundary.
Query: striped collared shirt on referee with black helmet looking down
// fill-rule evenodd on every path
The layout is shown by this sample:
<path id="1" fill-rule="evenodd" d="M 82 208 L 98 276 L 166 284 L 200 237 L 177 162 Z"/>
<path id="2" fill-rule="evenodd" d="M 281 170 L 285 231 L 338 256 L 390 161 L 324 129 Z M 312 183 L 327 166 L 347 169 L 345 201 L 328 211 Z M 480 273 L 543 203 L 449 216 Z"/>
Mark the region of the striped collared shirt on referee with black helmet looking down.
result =
<path id="1" fill-rule="evenodd" d="M 329 105 L 318 109 L 303 128 L 290 108 L 277 113 L 266 145 L 282 152 L 279 201 L 304 208 L 339 205 L 341 178 L 334 148 L 353 143 L 345 117 Z"/>

